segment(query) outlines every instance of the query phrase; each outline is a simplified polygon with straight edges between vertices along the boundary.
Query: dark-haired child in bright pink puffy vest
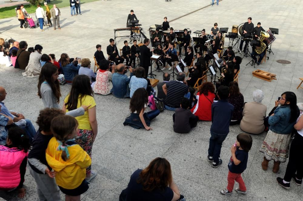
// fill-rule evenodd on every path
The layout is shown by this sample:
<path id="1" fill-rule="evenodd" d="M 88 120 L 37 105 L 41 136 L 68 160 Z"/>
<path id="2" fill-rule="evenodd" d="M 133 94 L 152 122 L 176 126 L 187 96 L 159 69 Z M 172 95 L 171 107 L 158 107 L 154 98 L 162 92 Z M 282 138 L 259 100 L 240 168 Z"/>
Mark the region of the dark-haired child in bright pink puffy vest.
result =
<path id="1" fill-rule="evenodd" d="M 25 196 L 23 188 L 29 139 L 18 126 L 8 129 L 6 144 L 0 145 L 0 190 L 18 189 L 18 197 Z"/>

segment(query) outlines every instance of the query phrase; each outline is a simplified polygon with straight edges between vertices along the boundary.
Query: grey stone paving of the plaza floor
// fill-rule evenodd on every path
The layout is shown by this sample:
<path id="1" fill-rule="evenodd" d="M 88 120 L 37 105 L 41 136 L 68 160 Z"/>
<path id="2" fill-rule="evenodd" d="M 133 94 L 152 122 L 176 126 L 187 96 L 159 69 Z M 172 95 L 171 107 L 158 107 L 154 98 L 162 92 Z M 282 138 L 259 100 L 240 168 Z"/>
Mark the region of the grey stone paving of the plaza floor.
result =
<path id="1" fill-rule="evenodd" d="M 303 90 L 296 89 L 300 83 L 299 77 L 303 77 L 302 1 L 222 0 L 219 6 L 213 7 L 210 3 L 210 0 L 97 1 L 82 4 L 83 14 L 78 16 L 71 17 L 69 7 L 60 8 L 61 30 L 53 30 L 52 27 L 48 30 L 44 27 L 43 32 L 39 28 L 20 30 L 17 18 L 2 19 L 0 37 L 25 40 L 28 47 L 40 44 L 43 46 L 42 53 L 55 53 L 57 59 L 61 53 L 68 53 L 70 57 L 89 58 L 93 61 L 96 44 L 102 45 L 106 55 L 109 39 L 114 37 L 113 29 L 125 27 L 131 9 L 135 11 L 146 36 L 149 36 L 149 26 L 161 24 L 165 16 L 171 21 L 170 26 L 174 29 L 190 28 L 196 31 L 205 28 L 207 33 L 215 22 L 219 28 L 228 27 L 231 31 L 233 24 L 244 23 L 248 17 L 252 17 L 255 26 L 260 21 L 265 30 L 269 27 L 278 28 L 279 34 L 271 46 L 274 54 L 267 53 L 269 60 L 266 63 L 263 62 L 254 69 L 249 64 L 245 66 L 250 57 L 244 57 L 240 65 L 239 87 L 245 102 L 252 101 L 252 92 L 255 89 L 264 92 L 262 103 L 268 106 L 268 112 L 274 107 L 277 96 L 285 91 L 295 92 L 298 102 L 303 102 Z M 117 38 L 118 48 L 122 48 L 124 40 L 126 38 Z M 225 39 L 225 46 L 227 45 L 228 38 Z M 276 60 L 288 60 L 291 63 L 281 64 Z M 277 80 L 267 82 L 253 77 L 252 71 L 256 69 L 276 74 Z M 0 67 L 0 85 L 4 86 L 8 93 L 4 102 L 8 109 L 22 113 L 32 120 L 37 128 L 35 121 L 39 110 L 43 109 L 42 100 L 37 96 L 38 78 L 25 78 L 21 73 L 22 71 L 13 67 Z M 161 81 L 161 73 L 156 74 L 157 79 Z M 69 85 L 61 86 L 61 104 L 69 90 Z M 285 190 L 275 181 L 277 176 L 284 176 L 287 163 L 281 164 L 277 174 L 271 171 L 272 161 L 268 171 L 261 169 L 263 156 L 259 148 L 266 132 L 252 135 L 253 145 L 249 151 L 247 169 L 242 174 L 248 193 L 239 195 L 234 191 L 231 195 L 223 196 L 219 192 L 227 186 L 230 147 L 236 136 L 242 132 L 238 125 L 230 126 L 230 133 L 223 143 L 223 164 L 212 168 L 206 158 L 211 122 L 198 122 L 198 126 L 189 134 L 177 134 L 172 127 L 173 112 L 164 111 L 151 122 L 152 131 L 136 130 L 122 124 L 130 114 L 130 99 L 99 94 L 94 97 L 97 103 L 98 136 L 92 151 L 92 169 L 98 175 L 92 180 L 89 190 L 81 196 L 83 201 L 118 200 L 131 174 L 138 168 L 145 168 L 155 157 L 165 157 L 169 160 L 175 183 L 187 200 L 302 200 L 301 186 L 291 181 L 291 188 Z M 27 194 L 20 200 L 38 200 L 36 184 L 28 169 L 24 185 Z M 238 187 L 237 183 L 235 187 Z M 0 192 L 0 197 L 5 200 L 19 200 L 14 192 Z"/>

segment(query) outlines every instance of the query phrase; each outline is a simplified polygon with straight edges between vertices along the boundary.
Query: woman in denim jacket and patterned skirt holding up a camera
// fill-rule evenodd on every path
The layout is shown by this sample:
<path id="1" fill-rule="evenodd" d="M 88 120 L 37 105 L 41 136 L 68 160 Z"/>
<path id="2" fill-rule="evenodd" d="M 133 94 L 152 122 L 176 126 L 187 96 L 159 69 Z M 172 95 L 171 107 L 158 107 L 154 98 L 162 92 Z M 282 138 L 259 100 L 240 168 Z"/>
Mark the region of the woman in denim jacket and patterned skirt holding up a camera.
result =
<path id="1" fill-rule="evenodd" d="M 268 118 L 270 128 L 260 148 L 264 153 L 262 169 L 267 170 L 268 162 L 274 160 L 274 173 L 278 172 L 280 163 L 288 158 L 291 132 L 300 114 L 294 92 L 282 93 L 281 99 L 276 101 L 278 104 L 281 106 Z"/>

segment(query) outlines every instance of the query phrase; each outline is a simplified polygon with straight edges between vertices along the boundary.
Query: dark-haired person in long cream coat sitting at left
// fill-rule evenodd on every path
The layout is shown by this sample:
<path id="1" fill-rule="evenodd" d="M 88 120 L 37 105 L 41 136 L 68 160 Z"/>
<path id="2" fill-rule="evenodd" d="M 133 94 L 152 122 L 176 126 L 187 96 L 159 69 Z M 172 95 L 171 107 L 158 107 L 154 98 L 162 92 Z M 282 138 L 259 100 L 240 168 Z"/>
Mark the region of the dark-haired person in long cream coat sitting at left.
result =
<path id="1" fill-rule="evenodd" d="M 28 65 L 25 67 L 25 72 L 22 73 L 25 77 L 37 77 L 41 72 L 41 63 L 40 59 L 42 57 L 42 49 L 41 45 L 35 45 L 35 52 L 29 55 Z"/>

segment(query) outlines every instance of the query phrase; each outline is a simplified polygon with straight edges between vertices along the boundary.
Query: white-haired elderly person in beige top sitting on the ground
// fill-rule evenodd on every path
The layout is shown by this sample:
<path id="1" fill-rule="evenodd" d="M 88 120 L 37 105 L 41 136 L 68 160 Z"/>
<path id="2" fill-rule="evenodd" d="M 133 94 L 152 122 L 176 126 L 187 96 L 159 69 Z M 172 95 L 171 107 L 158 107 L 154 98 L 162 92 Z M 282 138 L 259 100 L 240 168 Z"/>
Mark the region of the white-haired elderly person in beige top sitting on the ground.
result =
<path id="1" fill-rule="evenodd" d="M 260 134 L 264 131 L 264 118 L 266 117 L 267 106 L 261 102 L 264 98 L 264 93 L 257 89 L 252 93 L 253 102 L 247 102 L 243 108 L 243 118 L 240 122 L 242 131 L 251 134 Z"/>

